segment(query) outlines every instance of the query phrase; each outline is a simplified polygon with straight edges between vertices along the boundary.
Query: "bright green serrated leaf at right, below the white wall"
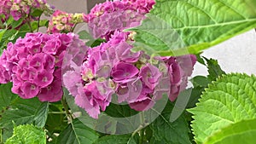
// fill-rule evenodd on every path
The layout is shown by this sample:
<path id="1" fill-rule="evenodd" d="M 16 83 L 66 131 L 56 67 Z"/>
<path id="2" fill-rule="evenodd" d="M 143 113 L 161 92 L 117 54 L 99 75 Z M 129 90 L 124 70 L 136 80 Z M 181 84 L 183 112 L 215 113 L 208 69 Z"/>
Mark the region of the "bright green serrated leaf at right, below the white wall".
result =
<path id="1" fill-rule="evenodd" d="M 195 141 L 244 119 L 256 118 L 256 77 L 228 74 L 209 85 L 195 108 L 192 122 Z"/>

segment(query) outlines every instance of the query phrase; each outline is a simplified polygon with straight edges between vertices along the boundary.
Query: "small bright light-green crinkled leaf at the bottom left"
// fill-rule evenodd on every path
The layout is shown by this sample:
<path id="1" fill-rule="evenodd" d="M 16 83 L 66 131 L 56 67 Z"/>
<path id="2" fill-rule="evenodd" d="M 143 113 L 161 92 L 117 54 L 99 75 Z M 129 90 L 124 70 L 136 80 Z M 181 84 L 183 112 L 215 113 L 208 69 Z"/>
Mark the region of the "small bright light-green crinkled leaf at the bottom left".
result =
<path id="1" fill-rule="evenodd" d="M 14 129 L 14 135 L 5 144 L 46 144 L 46 135 L 43 129 L 33 125 L 19 125 Z"/>

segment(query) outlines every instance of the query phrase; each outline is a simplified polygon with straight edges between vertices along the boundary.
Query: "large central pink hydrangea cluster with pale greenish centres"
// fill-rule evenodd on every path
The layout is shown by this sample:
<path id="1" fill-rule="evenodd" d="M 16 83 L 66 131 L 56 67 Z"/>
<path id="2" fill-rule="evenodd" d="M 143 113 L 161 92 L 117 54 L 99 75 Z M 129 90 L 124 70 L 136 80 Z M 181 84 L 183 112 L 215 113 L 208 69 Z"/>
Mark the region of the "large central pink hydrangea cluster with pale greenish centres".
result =
<path id="1" fill-rule="evenodd" d="M 78 71 L 64 74 L 64 85 L 75 97 L 75 103 L 92 118 L 106 110 L 113 94 L 119 103 L 127 102 L 131 108 L 145 111 L 164 93 L 175 101 L 186 87 L 195 55 L 155 57 L 157 62 L 152 64 L 150 56 L 131 52 L 130 36 L 130 32 L 114 32 L 107 43 L 88 49 Z M 82 86 L 76 87 L 79 84 Z"/>

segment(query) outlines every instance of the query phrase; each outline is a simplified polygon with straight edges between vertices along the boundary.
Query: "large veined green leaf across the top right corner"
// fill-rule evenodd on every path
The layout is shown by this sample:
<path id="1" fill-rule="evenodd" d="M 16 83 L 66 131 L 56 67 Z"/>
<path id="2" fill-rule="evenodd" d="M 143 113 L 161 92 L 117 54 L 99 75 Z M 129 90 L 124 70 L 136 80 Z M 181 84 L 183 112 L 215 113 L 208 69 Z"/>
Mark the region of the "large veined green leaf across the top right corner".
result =
<path id="1" fill-rule="evenodd" d="M 256 27 L 255 0 L 156 0 L 137 32 L 137 50 L 197 54 Z"/>

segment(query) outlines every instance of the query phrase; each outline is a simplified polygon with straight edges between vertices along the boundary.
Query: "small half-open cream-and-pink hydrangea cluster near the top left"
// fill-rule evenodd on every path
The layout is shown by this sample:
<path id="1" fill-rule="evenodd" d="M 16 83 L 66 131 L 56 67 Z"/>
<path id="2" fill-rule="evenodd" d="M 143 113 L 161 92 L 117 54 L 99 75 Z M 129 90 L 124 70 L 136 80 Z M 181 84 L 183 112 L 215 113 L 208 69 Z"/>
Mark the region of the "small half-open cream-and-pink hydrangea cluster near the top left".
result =
<path id="1" fill-rule="evenodd" d="M 85 14 L 68 14 L 61 10 L 56 10 L 49 21 L 48 32 L 73 32 L 74 26 L 85 22 Z"/>

